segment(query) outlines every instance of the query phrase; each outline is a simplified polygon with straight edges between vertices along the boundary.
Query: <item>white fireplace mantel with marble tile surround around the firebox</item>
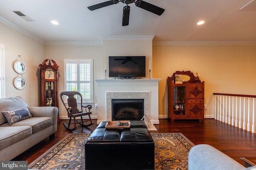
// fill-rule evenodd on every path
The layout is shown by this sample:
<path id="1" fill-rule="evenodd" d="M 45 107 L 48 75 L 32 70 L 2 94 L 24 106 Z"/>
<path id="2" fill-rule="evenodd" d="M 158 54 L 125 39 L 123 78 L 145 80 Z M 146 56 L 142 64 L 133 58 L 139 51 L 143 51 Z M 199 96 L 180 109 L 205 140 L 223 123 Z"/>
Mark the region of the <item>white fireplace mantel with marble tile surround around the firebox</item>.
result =
<path id="1" fill-rule="evenodd" d="M 112 121 L 112 99 L 144 99 L 144 115 L 152 124 L 158 119 L 158 82 L 161 79 L 96 79 L 98 120 Z"/>

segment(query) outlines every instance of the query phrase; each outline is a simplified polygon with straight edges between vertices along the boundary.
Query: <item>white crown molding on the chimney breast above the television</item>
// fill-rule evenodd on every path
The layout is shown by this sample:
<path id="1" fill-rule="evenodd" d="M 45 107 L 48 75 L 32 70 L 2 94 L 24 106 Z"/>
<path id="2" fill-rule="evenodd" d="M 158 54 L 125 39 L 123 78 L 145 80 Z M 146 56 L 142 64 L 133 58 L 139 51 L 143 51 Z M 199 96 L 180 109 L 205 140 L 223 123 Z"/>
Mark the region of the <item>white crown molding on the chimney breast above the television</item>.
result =
<path id="1" fill-rule="evenodd" d="M 103 40 L 153 40 L 154 35 L 104 35 Z"/>

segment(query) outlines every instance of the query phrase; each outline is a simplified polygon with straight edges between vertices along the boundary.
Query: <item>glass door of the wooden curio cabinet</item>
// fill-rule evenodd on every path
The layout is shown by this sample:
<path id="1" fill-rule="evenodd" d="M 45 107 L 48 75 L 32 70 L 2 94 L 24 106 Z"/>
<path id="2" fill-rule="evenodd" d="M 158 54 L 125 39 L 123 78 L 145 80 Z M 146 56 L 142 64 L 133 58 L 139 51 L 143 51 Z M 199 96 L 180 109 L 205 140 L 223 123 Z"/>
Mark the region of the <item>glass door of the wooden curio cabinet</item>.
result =
<path id="1" fill-rule="evenodd" d="M 173 114 L 185 115 L 186 114 L 186 87 L 174 86 L 173 87 Z"/>

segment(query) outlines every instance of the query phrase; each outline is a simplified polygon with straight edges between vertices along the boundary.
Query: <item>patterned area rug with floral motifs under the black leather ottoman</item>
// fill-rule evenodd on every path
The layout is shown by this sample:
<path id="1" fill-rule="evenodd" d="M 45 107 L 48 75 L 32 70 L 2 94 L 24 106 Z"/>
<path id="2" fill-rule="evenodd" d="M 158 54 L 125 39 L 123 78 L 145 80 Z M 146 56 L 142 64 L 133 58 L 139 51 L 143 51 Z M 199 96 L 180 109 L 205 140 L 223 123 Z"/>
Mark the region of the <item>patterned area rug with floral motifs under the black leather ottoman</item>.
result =
<path id="1" fill-rule="evenodd" d="M 152 133 L 156 170 L 187 170 L 188 152 L 194 146 L 182 133 Z M 84 170 L 84 143 L 89 134 L 70 134 L 28 165 L 40 170 Z"/>

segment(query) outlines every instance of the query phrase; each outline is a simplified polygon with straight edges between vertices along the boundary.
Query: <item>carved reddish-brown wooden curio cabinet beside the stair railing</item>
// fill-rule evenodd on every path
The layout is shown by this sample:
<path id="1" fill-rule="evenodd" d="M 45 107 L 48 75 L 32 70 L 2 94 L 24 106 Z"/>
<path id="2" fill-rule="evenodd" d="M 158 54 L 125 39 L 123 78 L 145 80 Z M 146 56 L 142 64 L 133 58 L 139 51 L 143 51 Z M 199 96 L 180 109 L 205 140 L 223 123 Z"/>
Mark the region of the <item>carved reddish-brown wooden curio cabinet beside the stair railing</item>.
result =
<path id="1" fill-rule="evenodd" d="M 204 82 L 190 71 L 176 71 L 168 77 L 168 119 L 204 121 Z"/>

